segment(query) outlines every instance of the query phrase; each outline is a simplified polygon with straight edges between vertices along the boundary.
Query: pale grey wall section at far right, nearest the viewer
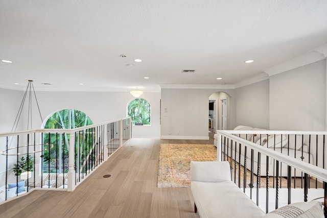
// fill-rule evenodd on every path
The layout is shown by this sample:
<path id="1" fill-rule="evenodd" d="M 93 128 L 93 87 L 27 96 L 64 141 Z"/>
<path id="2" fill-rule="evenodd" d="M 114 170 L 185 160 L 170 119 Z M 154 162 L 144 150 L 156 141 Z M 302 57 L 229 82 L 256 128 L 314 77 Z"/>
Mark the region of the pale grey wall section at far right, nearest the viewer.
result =
<path id="1" fill-rule="evenodd" d="M 325 130 L 325 62 L 270 77 L 270 129 Z"/>

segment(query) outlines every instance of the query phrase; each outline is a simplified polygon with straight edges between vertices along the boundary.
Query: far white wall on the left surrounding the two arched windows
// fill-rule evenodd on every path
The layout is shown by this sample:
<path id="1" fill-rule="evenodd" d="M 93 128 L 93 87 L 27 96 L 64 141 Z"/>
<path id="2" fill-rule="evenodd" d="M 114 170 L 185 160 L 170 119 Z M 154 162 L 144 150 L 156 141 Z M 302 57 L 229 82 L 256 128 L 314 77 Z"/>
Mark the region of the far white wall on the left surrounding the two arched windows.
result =
<path id="1" fill-rule="evenodd" d="M 2 132 L 11 131 L 23 95 L 23 91 L 0 89 L 2 100 L 0 130 Z M 126 117 L 127 105 L 133 99 L 133 96 L 127 92 L 36 91 L 36 97 L 43 119 L 55 111 L 73 108 L 86 113 L 95 124 Z M 133 137 L 159 137 L 160 93 L 144 93 L 141 97 L 151 105 L 151 126 L 133 126 Z M 27 104 L 28 99 L 25 105 Z M 35 103 L 33 103 L 32 111 L 33 129 L 39 129 L 41 128 L 41 119 Z M 22 123 L 26 124 L 27 108 L 23 113 L 24 117 L 20 119 Z M 22 128 L 26 129 L 26 125 Z"/>

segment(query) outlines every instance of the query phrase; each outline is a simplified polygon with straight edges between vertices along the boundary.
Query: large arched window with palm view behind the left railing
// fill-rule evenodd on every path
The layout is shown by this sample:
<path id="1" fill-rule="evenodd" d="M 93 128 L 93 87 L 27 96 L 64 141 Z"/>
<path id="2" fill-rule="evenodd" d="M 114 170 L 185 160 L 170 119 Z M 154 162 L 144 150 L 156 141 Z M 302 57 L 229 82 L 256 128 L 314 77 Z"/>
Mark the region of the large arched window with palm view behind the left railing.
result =
<path id="1" fill-rule="evenodd" d="M 74 129 L 91 125 L 92 120 L 82 111 L 64 109 L 52 114 L 44 129 Z M 84 148 L 81 154 L 87 154 L 89 143 L 92 143 L 92 131 L 83 133 Z M 42 172 L 67 173 L 69 134 L 43 134 Z"/>

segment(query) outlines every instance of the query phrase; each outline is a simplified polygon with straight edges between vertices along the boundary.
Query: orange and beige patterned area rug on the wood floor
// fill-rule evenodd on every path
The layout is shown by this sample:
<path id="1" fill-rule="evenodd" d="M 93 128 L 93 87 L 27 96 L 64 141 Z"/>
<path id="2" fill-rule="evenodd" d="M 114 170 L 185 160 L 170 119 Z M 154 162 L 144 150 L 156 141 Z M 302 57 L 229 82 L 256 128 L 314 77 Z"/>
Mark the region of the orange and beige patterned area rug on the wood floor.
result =
<path id="1" fill-rule="evenodd" d="M 158 188 L 190 187 L 190 163 L 215 161 L 217 148 L 212 144 L 160 144 Z"/>

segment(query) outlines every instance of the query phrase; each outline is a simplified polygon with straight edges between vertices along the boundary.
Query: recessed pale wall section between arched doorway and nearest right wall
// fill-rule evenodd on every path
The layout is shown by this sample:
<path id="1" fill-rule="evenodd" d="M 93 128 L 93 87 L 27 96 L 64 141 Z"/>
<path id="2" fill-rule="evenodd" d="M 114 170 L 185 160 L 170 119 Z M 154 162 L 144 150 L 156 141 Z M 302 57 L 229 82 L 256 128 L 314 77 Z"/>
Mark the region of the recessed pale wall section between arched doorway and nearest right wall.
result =
<path id="1" fill-rule="evenodd" d="M 269 129 L 269 80 L 235 89 L 236 126 Z"/>

